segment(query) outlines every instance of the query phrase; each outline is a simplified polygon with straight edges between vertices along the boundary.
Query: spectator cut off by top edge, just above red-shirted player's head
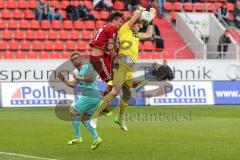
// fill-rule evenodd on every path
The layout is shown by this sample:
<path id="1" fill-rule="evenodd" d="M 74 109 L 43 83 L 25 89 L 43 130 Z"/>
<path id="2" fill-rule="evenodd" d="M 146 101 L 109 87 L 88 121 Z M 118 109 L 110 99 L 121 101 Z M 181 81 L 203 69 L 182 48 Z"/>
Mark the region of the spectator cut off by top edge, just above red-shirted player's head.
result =
<path id="1" fill-rule="evenodd" d="M 113 3 L 112 0 L 93 0 L 93 8 L 111 11 L 113 9 Z"/>

